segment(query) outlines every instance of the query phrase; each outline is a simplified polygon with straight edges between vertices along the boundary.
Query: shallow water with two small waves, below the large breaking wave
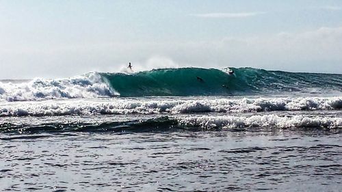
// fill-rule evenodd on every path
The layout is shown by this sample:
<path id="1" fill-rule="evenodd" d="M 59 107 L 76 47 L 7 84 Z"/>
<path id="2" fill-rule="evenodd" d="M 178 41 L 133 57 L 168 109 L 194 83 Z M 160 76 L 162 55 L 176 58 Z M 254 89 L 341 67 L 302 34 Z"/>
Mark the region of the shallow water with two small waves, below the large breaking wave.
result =
<path id="1" fill-rule="evenodd" d="M 341 96 L 0 101 L 0 191 L 341 191 Z"/>

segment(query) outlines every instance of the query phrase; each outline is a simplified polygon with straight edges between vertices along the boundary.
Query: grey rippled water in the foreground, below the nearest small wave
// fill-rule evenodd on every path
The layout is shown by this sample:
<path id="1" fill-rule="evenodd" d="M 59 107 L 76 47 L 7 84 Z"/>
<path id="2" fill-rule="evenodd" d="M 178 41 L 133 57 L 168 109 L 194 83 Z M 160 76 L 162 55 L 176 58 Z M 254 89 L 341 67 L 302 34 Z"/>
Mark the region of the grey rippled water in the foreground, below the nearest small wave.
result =
<path id="1" fill-rule="evenodd" d="M 341 191 L 341 129 L 0 133 L 1 191 Z"/>

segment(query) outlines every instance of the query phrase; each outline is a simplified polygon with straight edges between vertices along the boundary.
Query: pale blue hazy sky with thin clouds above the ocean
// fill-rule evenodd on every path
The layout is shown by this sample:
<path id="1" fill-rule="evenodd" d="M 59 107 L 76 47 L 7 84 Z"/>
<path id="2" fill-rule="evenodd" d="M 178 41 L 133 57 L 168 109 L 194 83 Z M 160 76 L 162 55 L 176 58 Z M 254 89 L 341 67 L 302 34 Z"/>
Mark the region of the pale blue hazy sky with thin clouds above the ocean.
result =
<path id="1" fill-rule="evenodd" d="M 342 73 L 341 53 L 341 0 L 0 0 L 0 79 L 129 62 Z"/>

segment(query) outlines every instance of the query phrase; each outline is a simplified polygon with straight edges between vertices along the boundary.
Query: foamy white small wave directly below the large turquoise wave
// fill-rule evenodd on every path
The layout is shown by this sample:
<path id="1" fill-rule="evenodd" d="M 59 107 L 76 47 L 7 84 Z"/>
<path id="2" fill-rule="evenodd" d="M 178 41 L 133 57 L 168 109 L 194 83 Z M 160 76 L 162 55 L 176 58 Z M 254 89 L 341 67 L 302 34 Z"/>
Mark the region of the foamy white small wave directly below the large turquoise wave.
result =
<path id="1" fill-rule="evenodd" d="M 248 113 L 342 109 L 341 97 L 51 100 L 3 103 L 0 116 Z"/>

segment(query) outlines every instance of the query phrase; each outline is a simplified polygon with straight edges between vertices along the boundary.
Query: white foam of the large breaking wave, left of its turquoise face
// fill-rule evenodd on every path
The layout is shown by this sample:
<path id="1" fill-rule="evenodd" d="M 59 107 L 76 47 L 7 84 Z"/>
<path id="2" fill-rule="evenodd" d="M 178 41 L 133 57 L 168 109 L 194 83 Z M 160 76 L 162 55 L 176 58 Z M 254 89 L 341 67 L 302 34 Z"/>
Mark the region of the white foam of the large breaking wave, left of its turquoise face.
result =
<path id="1" fill-rule="evenodd" d="M 54 98 L 94 98 L 117 94 L 91 72 L 70 79 L 34 79 L 26 83 L 1 83 L 0 100 L 24 101 Z"/>

